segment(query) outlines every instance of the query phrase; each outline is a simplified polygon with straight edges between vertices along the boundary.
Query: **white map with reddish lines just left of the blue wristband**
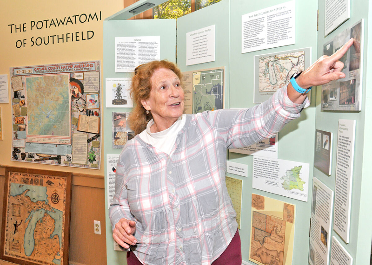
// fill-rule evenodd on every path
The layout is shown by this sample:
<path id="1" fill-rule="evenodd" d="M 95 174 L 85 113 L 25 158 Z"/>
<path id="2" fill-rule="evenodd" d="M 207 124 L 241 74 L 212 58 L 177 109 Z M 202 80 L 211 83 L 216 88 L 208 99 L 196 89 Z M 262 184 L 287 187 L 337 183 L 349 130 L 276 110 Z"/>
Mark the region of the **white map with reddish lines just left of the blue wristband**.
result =
<path id="1" fill-rule="evenodd" d="M 291 52 L 259 58 L 259 91 L 272 92 L 287 85 L 291 76 L 303 71 L 305 52 Z"/>

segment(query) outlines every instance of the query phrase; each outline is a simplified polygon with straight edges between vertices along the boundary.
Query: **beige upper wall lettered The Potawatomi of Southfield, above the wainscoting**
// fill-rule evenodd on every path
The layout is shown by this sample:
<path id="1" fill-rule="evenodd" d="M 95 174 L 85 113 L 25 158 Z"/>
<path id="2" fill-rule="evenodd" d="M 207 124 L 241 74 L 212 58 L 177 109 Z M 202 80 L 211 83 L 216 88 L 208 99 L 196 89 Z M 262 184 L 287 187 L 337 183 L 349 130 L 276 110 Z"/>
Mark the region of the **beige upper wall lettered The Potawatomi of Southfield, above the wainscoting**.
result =
<path id="1" fill-rule="evenodd" d="M 48 0 L 15 0 L 15 1 L 0 1 L 0 74 L 8 75 L 9 82 L 9 99 L 11 101 L 9 68 L 14 66 L 29 66 L 42 65 L 52 63 L 65 62 L 81 62 L 87 60 L 101 60 L 103 58 L 103 20 L 122 10 L 123 0 L 82 0 L 82 1 L 48 1 Z M 101 16 L 102 20 L 92 20 L 90 22 L 80 23 L 77 19 L 75 23 L 74 16 L 81 14 L 94 14 Z M 52 19 L 63 19 L 64 17 L 71 17 L 73 24 L 68 23 L 64 26 L 50 25 Z M 84 17 L 83 17 L 84 18 Z M 45 25 L 44 20 L 49 20 Z M 37 29 L 32 26 L 32 21 L 42 28 Z M 66 20 L 67 21 L 67 20 Z M 15 24 L 20 29 L 15 29 L 15 26 L 8 26 Z M 23 31 L 23 24 L 25 31 Z M 11 33 L 11 30 L 13 33 Z M 74 42 L 64 42 L 48 45 L 36 46 L 37 37 L 48 37 L 52 35 L 62 35 L 66 33 L 81 32 L 87 34 L 87 31 L 94 32 L 94 36 L 89 40 L 80 40 Z M 25 47 L 23 44 L 21 48 L 16 48 L 18 40 L 23 43 L 26 40 Z M 102 70 L 102 69 L 101 69 Z M 102 73 L 101 73 L 102 75 Z M 101 82 L 102 85 L 102 82 Z M 102 86 L 101 86 L 102 87 Z M 28 167 L 41 168 L 45 170 L 71 171 L 82 174 L 98 174 L 103 176 L 103 159 L 101 159 L 101 170 L 87 170 L 75 167 L 61 167 L 53 165 L 40 165 L 34 163 L 22 163 L 17 161 L 10 161 L 11 145 L 12 145 L 12 112 L 11 103 L 0 104 L 2 110 L 2 124 L 3 124 L 3 140 L 0 140 L 0 165 L 13 167 Z M 102 109 L 101 109 L 102 110 Z M 103 138 L 103 137 L 101 137 Z M 102 149 L 103 150 L 103 146 Z M 103 154 L 102 154 L 103 158 Z"/>

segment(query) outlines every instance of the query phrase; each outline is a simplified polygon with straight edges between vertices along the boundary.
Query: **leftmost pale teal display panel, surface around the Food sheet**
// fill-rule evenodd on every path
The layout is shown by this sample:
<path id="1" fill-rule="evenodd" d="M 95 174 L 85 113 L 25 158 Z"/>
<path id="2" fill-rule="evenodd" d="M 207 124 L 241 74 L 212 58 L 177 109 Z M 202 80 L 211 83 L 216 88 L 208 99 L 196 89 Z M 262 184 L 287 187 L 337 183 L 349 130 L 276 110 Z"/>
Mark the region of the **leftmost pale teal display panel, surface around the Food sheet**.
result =
<path id="1" fill-rule="evenodd" d="M 106 78 L 130 78 L 133 73 L 115 72 L 115 37 L 160 36 L 160 59 L 176 61 L 176 20 L 105 20 L 103 22 L 103 84 Z M 103 98 L 109 92 L 103 86 Z M 105 197 L 106 197 L 106 249 L 107 264 L 126 264 L 126 252 L 113 250 L 113 238 L 107 209 L 107 154 L 120 154 L 120 149 L 112 149 L 112 112 L 130 112 L 131 108 L 106 108 L 103 112 L 104 152 L 105 152 Z"/>

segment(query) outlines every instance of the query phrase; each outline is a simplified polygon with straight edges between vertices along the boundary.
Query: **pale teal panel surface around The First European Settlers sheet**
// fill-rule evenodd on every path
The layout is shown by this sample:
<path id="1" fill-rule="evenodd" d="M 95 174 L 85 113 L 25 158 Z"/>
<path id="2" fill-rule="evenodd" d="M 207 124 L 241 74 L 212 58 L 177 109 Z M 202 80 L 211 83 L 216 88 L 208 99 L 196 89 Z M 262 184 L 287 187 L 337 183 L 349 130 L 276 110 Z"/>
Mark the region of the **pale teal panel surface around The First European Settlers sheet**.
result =
<path id="1" fill-rule="evenodd" d="M 254 56 L 279 53 L 287 50 L 311 48 L 311 62 L 316 59 L 317 45 L 317 3 L 315 1 L 295 1 L 296 37 L 294 45 L 241 53 L 241 16 L 256 10 L 275 6 L 286 1 L 231 1 L 230 21 L 230 107 L 253 107 Z M 304 19 L 306 17 L 306 19 Z M 306 22 L 305 22 L 306 20 Z M 315 93 L 311 94 L 311 105 L 304 109 L 301 117 L 287 124 L 278 135 L 278 158 L 310 163 L 309 187 L 312 187 L 312 161 L 314 159 Z M 240 234 L 242 257 L 249 259 L 251 240 L 251 193 L 260 194 L 296 205 L 295 238 L 292 264 L 307 264 L 309 248 L 309 227 L 311 215 L 311 195 L 308 202 L 290 199 L 273 193 L 252 188 L 253 156 L 229 152 L 229 160 L 248 164 L 248 177 L 243 179 L 242 214 Z M 311 190 L 311 188 L 310 188 Z"/>

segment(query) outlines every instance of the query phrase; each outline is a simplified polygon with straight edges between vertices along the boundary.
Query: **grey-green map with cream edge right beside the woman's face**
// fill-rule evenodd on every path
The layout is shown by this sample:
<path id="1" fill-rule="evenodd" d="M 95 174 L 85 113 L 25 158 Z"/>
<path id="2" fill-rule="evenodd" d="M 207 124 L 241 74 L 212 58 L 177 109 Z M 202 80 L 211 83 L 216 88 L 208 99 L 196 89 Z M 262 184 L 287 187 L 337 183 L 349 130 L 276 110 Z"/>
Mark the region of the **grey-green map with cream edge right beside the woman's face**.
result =
<path id="1" fill-rule="evenodd" d="M 224 69 L 194 72 L 192 86 L 194 113 L 224 107 Z"/>

